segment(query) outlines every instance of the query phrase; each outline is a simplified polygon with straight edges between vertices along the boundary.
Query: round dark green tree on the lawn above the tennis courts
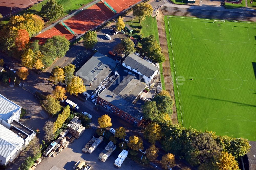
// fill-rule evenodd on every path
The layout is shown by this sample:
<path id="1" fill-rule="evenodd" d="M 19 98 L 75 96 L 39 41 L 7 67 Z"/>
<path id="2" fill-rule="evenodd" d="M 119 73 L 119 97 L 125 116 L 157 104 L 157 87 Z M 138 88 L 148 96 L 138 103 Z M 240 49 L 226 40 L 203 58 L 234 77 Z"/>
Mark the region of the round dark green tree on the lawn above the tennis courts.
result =
<path id="1" fill-rule="evenodd" d="M 55 0 L 49 0 L 42 5 L 41 13 L 50 21 L 55 21 L 64 15 L 63 6 Z"/>

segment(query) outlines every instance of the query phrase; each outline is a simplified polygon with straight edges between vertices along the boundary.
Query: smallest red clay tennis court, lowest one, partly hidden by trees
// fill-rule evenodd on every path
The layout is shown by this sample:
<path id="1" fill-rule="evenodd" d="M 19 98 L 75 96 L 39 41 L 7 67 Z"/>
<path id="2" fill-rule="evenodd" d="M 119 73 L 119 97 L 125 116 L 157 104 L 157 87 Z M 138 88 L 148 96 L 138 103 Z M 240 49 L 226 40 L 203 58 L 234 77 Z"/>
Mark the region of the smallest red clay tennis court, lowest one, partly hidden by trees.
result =
<path id="1" fill-rule="evenodd" d="M 65 38 L 68 40 L 72 40 L 75 36 L 71 34 L 68 30 L 66 30 L 62 25 L 57 24 L 55 27 L 33 37 L 31 41 L 39 40 L 39 44 L 45 43 L 48 38 L 51 38 L 55 35 L 65 35 Z"/>

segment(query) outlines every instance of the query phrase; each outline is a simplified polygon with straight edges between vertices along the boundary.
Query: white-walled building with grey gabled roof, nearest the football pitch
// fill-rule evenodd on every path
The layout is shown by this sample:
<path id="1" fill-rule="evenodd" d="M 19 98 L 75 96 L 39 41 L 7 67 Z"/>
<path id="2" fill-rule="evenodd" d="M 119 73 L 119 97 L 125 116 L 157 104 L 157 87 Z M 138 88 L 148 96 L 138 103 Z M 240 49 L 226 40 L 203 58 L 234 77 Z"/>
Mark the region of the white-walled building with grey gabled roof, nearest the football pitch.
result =
<path id="1" fill-rule="evenodd" d="M 155 65 L 133 53 L 125 58 L 122 65 L 141 75 L 147 85 L 150 84 L 151 80 L 156 76 L 159 70 Z"/>

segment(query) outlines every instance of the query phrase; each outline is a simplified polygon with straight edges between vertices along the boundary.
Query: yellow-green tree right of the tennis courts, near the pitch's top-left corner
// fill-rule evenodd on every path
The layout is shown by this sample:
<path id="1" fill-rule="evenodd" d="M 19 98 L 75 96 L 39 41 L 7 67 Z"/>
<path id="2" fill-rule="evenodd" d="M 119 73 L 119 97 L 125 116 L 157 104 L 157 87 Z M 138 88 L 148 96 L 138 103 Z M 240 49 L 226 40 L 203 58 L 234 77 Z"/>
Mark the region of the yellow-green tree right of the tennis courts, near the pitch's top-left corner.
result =
<path id="1" fill-rule="evenodd" d="M 150 4 L 140 3 L 133 7 L 133 15 L 139 17 L 139 23 L 144 20 L 146 16 L 150 16 L 153 13 L 153 8 Z"/>

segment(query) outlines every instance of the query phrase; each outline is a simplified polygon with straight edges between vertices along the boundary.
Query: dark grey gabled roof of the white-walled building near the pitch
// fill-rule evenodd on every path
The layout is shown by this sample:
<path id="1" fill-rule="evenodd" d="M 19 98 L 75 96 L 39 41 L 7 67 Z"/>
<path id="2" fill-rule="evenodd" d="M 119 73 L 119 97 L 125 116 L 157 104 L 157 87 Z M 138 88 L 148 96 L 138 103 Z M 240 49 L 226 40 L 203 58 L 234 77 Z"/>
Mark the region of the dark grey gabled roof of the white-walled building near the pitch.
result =
<path id="1" fill-rule="evenodd" d="M 153 64 L 148 63 L 143 58 L 131 53 L 129 54 L 123 63 L 127 64 L 128 66 L 132 67 L 134 70 L 141 72 L 143 75 L 150 77 L 154 74 L 158 68 Z M 136 72 L 135 71 L 135 72 Z"/>

